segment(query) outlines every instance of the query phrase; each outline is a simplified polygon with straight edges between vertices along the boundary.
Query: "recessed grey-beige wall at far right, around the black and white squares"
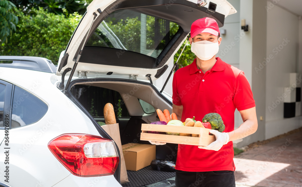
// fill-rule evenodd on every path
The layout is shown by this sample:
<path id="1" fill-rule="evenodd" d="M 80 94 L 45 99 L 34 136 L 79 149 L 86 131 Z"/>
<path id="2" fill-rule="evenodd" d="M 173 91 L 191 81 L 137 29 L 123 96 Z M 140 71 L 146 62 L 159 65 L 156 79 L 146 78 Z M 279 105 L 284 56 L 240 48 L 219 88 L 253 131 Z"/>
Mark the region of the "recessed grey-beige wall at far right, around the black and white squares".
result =
<path id="1" fill-rule="evenodd" d="M 268 1 L 267 7 L 269 5 Z M 290 73 L 301 73 L 298 52 L 301 50 L 299 23 L 301 24 L 301 21 L 296 15 L 278 5 L 267 8 L 266 60 L 261 61 L 262 66 L 266 66 L 265 139 L 301 127 L 300 116 L 283 117 L 284 100 L 288 100 L 289 95 L 295 92 L 296 84 L 297 87 L 301 85 L 299 76 L 294 82 L 290 81 Z M 284 90 L 285 87 L 290 89 Z"/>

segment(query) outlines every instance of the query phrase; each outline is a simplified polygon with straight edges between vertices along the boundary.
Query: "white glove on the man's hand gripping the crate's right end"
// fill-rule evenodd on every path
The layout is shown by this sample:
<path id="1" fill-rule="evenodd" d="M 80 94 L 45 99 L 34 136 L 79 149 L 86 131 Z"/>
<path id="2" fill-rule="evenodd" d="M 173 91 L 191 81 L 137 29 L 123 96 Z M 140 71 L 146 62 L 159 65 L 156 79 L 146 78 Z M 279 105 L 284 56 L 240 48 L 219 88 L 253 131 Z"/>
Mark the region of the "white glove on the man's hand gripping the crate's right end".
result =
<path id="1" fill-rule="evenodd" d="M 207 149 L 207 150 L 214 150 L 218 151 L 221 149 L 221 147 L 229 142 L 229 134 L 226 132 L 219 132 L 216 130 L 210 130 L 210 133 L 215 135 L 216 141 L 210 143 L 208 146 L 198 146 L 200 149 Z"/>

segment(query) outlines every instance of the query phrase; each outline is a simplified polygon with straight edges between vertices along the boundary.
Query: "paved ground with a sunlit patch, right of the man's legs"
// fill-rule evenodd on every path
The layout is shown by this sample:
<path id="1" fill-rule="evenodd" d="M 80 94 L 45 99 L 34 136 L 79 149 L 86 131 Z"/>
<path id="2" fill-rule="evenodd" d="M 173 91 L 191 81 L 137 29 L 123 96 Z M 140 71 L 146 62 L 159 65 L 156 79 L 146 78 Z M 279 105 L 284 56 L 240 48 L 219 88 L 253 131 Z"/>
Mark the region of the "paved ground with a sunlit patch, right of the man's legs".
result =
<path id="1" fill-rule="evenodd" d="M 302 131 L 234 157 L 236 187 L 302 187 Z"/>

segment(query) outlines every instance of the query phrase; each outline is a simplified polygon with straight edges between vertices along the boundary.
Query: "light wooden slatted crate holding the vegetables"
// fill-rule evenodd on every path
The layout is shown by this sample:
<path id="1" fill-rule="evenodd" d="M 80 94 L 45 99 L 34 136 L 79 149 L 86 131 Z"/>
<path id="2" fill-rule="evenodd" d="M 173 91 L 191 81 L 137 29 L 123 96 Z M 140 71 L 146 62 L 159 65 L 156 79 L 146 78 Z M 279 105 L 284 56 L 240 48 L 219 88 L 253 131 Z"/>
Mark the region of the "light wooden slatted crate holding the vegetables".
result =
<path id="1" fill-rule="evenodd" d="M 173 125 L 153 125 L 142 124 L 142 132 L 140 133 L 140 140 L 146 141 L 159 141 L 172 144 L 185 144 L 185 145 L 201 145 L 207 146 L 216 140 L 214 135 L 209 135 L 211 129 L 201 127 L 186 127 L 186 126 L 173 126 Z M 148 131 L 156 132 L 178 132 L 187 134 L 198 134 L 198 137 L 190 136 L 176 136 L 176 135 L 161 135 L 148 133 Z"/>

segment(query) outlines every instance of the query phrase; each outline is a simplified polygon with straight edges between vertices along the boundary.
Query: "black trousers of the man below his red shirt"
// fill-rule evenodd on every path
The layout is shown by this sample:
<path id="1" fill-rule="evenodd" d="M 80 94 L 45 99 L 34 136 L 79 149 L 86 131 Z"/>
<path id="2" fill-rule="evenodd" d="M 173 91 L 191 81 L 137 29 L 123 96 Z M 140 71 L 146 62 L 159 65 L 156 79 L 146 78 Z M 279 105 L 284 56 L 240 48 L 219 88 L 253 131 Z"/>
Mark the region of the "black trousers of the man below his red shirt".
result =
<path id="1" fill-rule="evenodd" d="M 233 171 L 189 172 L 176 170 L 176 187 L 235 187 Z"/>

